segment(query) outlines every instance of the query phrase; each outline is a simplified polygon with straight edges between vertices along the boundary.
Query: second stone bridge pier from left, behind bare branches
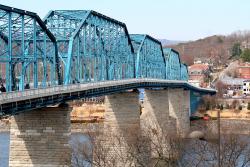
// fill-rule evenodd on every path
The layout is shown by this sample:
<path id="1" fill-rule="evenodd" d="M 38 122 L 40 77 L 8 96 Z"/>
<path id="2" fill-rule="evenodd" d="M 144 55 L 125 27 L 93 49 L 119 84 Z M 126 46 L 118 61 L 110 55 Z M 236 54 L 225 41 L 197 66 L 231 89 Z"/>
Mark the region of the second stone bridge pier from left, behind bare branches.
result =
<path id="1" fill-rule="evenodd" d="M 138 92 L 122 92 L 105 96 L 103 146 L 106 160 L 115 166 L 131 166 L 128 151 L 140 133 Z M 95 158 L 95 156 L 94 156 Z"/>

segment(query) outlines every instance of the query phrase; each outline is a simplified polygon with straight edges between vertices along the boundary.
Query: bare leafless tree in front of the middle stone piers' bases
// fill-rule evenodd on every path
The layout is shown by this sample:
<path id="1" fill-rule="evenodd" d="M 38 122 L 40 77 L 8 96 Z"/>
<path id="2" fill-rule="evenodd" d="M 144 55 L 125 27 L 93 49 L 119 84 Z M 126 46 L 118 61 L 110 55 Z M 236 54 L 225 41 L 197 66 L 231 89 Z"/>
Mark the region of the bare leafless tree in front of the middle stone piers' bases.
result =
<path id="1" fill-rule="evenodd" d="M 126 136 L 110 132 L 88 133 L 87 141 L 72 144 L 73 166 L 117 167 L 117 166 L 174 166 L 180 151 L 181 138 L 162 135 L 154 128 L 140 134 L 131 129 Z M 127 137 L 130 136 L 130 137 Z"/>

